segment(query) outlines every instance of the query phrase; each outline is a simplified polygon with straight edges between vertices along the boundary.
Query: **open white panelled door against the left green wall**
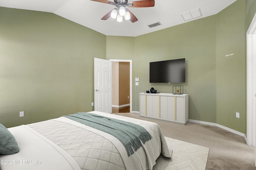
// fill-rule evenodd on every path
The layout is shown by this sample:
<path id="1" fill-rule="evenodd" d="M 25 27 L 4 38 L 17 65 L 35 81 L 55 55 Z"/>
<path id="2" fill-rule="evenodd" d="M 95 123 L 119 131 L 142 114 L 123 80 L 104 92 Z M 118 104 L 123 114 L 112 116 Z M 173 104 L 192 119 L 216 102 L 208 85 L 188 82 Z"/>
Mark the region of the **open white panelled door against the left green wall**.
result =
<path id="1" fill-rule="evenodd" d="M 111 61 L 94 58 L 94 110 L 112 113 Z"/>

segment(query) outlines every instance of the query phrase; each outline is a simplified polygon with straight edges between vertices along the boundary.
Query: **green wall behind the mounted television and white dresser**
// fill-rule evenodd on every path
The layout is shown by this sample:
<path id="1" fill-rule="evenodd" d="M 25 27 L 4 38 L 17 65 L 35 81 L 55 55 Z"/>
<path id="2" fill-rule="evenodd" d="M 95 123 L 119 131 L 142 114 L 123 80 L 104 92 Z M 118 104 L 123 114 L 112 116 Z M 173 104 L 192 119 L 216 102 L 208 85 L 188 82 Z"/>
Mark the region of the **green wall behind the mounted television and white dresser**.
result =
<path id="1" fill-rule="evenodd" d="M 139 93 L 155 90 L 172 93 L 172 86 L 182 85 L 189 94 L 189 119 L 216 121 L 216 16 L 191 21 L 161 31 L 136 37 L 136 111 Z M 186 83 L 149 83 L 149 63 L 186 58 Z"/>

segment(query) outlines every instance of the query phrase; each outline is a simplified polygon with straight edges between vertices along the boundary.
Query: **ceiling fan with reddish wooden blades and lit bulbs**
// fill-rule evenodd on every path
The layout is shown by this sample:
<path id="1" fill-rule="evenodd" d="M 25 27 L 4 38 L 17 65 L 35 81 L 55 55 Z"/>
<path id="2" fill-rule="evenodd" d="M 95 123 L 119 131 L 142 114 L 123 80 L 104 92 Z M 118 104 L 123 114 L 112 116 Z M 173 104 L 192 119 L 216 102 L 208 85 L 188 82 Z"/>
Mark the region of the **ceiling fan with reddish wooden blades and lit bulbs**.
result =
<path id="1" fill-rule="evenodd" d="M 122 19 L 124 18 L 126 20 L 130 20 L 132 23 L 138 21 L 138 18 L 132 14 L 130 10 L 128 10 L 126 7 L 131 8 L 144 8 L 144 7 L 153 7 L 155 6 L 155 0 L 138 0 L 133 2 L 128 2 L 128 0 L 114 0 L 114 2 L 109 0 L 92 0 L 96 2 L 102 2 L 105 4 L 110 4 L 116 6 L 113 10 L 108 12 L 105 16 L 103 16 L 102 20 L 108 20 L 108 18 L 116 18 L 118 22 L 122 22 Z"/>

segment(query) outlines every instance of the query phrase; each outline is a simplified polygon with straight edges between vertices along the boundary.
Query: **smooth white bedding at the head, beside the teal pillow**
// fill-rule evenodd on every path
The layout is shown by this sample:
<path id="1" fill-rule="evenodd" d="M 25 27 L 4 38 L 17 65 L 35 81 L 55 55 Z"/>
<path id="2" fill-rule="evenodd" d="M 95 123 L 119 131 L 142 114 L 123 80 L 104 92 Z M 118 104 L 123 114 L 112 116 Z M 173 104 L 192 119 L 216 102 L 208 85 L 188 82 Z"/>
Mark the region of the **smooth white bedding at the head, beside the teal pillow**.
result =
<path id="1" fill-rule="evenodd" d="M 72 156 L 30 127 L 21 125 L 8 130 L 20 152 L 0 154 L 0 170 L 80 170 Z"/>

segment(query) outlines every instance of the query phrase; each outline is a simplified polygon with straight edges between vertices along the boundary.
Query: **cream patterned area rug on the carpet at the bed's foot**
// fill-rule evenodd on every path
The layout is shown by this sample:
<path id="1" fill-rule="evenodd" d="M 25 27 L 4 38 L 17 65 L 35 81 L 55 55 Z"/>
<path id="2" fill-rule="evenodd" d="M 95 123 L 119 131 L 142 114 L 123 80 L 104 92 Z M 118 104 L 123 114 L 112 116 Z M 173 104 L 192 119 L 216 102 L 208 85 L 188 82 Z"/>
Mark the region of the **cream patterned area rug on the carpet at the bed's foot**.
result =
<path id="1" fill-rule="evenodd" d="M 153 170 L 205 170 L 209 148 L 165 137 L 172 149 L 172 158 L 162 154 L 156 160 Z"/>

